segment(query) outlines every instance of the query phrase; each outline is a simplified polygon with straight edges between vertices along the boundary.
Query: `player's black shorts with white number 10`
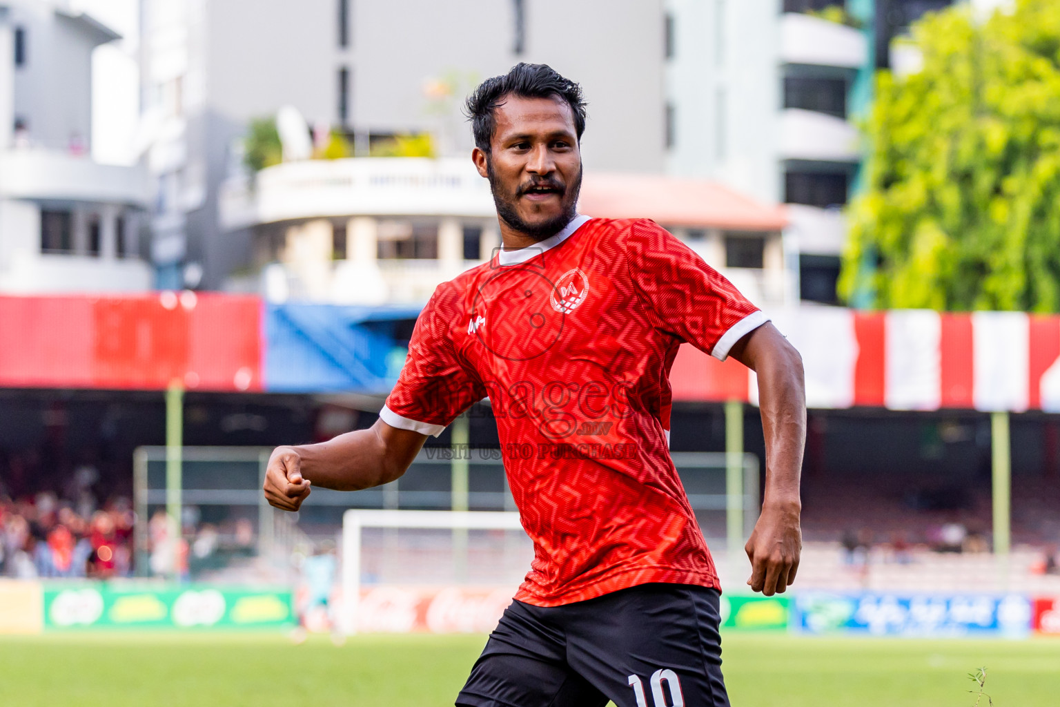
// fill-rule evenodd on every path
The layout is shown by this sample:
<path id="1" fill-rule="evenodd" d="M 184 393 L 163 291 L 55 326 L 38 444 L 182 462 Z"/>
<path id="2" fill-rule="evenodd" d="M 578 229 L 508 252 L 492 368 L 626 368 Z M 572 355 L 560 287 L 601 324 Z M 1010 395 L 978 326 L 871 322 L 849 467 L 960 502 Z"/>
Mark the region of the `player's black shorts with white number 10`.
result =
<path id="1" fill-rule="evenodd" d="M 644 584 L 564 606 L 513 601 L 467 707 L 728 707 L 717 589 Z"/>

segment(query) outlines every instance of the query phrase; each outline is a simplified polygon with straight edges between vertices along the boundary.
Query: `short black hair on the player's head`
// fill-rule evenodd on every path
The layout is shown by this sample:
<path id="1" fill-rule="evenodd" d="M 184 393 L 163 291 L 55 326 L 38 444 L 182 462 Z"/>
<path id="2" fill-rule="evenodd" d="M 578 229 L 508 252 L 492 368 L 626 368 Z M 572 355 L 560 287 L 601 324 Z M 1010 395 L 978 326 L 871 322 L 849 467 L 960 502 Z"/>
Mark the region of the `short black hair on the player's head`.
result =
<path id="1" fill-rule="evenodd" d="M 475 135 L 475 145 L 487 155 L 490 154 L 490 141 L 496 128 L 493 111 L 504 104 L 509 95 L 524 99 L 553 96 L 563 99 L 575 114 L 575 131 L 578 134 L 578 139 L 582 139 L 582 132 L 585 131 L 585 101 L 582 99 L 582 87 L 569 78 L 564 78 L 547 64 L 520 61 L 504 76 L 487 78 L 467 96 L 464 107 L 471 121 L 472 132 Z"/>

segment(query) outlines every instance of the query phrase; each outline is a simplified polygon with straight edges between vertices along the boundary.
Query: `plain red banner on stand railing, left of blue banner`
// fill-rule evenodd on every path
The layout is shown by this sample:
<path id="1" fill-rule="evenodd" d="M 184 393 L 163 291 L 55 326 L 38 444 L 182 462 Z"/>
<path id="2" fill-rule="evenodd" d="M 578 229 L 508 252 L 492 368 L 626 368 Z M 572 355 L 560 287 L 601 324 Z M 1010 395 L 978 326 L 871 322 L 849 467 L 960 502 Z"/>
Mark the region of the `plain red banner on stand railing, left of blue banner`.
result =
<path id="1" fill-rule="evenodd" d="M 262 390 L 254 297 L 0 297 L 0 386 Z"/>

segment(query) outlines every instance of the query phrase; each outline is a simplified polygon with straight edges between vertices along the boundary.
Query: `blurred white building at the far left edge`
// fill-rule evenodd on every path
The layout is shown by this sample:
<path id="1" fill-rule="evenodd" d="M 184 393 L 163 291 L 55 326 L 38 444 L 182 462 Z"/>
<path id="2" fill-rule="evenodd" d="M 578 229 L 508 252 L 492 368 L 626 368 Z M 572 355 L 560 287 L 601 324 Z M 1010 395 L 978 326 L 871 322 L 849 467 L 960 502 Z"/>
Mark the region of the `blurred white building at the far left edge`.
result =
<path id="1" fill-rule="evenodd" d="M 66 2 L 0 6 L 0 291 L 151 287 L 146 173 L 89 157 L 92 50 L 118 38 Z"/>

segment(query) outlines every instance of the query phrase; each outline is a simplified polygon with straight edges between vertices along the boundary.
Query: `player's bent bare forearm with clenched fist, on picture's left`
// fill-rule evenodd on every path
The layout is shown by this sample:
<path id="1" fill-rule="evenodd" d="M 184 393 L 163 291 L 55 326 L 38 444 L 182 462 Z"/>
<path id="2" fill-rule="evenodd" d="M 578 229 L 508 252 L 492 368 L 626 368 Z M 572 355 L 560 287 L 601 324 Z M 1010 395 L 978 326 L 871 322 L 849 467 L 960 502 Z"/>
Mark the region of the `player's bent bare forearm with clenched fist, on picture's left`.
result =
<path id="1" fill-rule="evenodd" d="M 297 511 L 311 485 L 359 491 L 393 481 L 408 470 L 426 439 L 377 420 L 368 429 L 319 444 L 277 447 L 265 471 L 265 498 L 276 508 Z"/>

